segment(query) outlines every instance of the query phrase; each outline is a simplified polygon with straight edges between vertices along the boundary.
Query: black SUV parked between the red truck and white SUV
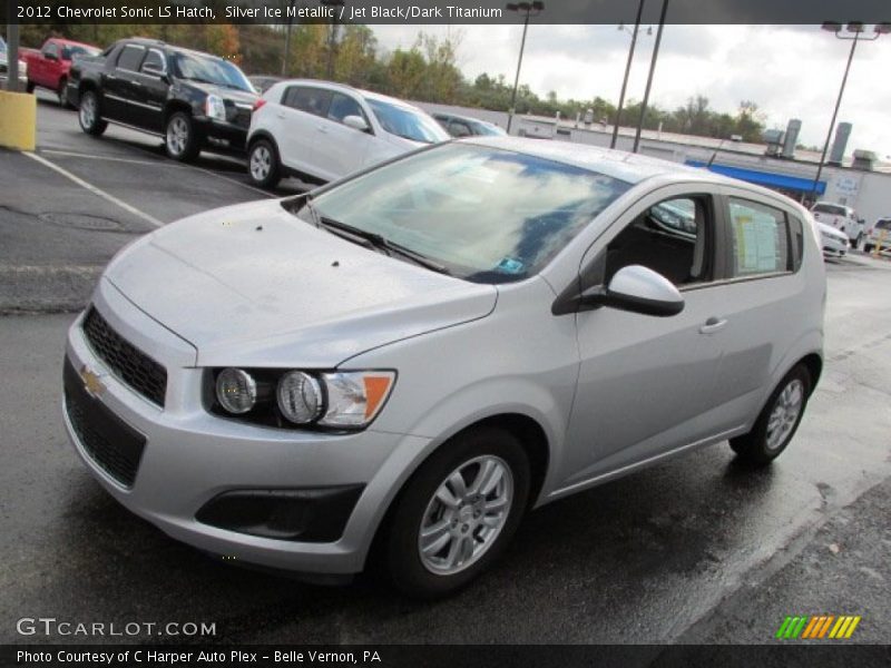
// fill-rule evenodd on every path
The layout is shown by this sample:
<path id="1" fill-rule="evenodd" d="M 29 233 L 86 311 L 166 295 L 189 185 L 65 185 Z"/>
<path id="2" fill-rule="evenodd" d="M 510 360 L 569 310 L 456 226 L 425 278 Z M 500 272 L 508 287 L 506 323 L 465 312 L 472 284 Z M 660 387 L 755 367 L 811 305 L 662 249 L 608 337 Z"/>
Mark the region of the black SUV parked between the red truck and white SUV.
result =
<path id="1" fill-rule="evenodd" d="M 237 66 L 200 51 L 133 38 L 75 62 L 68 96 L 85 132 L 119 122 L 165 138 L 175 160 L 244 149 L 257 96 Z"/>

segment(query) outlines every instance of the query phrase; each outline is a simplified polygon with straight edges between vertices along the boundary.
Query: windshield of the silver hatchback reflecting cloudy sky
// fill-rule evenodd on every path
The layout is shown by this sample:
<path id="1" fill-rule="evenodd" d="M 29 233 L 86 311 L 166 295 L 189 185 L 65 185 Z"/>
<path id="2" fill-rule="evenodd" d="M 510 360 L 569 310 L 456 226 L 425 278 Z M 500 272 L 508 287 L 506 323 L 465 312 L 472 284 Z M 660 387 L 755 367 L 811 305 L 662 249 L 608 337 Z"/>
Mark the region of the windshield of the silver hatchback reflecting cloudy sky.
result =
<path id="1" fill-rule="evenodd" d="M 297 214 L 335 220 L 474 283 L 540 272 L 630 184 L 540 157 L 446 144 L 353 178 Z"/>

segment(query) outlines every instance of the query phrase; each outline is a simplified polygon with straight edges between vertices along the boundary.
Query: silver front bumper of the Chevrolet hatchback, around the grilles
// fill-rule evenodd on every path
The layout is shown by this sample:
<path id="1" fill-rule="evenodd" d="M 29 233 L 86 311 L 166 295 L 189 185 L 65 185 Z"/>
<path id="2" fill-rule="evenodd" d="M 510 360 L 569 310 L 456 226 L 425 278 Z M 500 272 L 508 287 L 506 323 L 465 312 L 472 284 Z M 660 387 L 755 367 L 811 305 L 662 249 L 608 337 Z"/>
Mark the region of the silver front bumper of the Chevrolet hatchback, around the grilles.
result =
<path id="1" fill-rule="evenodd" d="M 115 376 L 95 354 L 81 328 L 82 315 L 69 331 L 66 354 L 71 366 L 77 372 L 91 371 L 101 383 L 92 400 L 145 440 L 131 483 L 123 483 L 91 454 L 65 406 L 76 451 L 115 499 L 173 538 L 227 560 L 307 573 L 362 570 L 376 527 L 401 483 L 394 452 L 418 452 L 427 439 L 372 430 L 350 434 L 275 430 L 216 418 L 202 402 L 203 370 L 194 367 L 195 350 L 187 342 L 136 308 L 105 279 L 94 304 L 121 336 L 163 362 L 168 372 L 161 409 Z M 267 538 L 262 530 L 246 532 L 237 522 L 208 520 L 206 511 L 200 515 L 206 521 L 196 519 L 202 509 L 213 508 L 212 501 L 245 490 L 285 497 L 294 492 L 305 501 L 330 489 L 355 490 L 355 494 L 345 510 L 340 507 L 342 528 L 332 530 L 325 520 L 336 522 L 331 517 L 336 513 L 325 511 L 320 531 L 316 513 L 312 540 L 301 540 L 300 530 L 281 539 Z"/>

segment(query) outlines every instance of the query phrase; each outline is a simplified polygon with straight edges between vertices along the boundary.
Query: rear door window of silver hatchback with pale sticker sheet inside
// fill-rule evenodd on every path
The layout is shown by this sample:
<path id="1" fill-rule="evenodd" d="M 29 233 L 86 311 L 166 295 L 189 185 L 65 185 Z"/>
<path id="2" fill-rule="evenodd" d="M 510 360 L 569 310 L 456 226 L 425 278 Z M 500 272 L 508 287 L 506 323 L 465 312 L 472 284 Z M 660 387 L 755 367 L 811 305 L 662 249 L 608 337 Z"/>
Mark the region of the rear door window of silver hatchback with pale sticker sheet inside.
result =
<path id="1" fill-rule="evenodd" d="M 731 197 L 734 277 L 791 272 L 795 267 L 786 215 L 776 208 Z"/>

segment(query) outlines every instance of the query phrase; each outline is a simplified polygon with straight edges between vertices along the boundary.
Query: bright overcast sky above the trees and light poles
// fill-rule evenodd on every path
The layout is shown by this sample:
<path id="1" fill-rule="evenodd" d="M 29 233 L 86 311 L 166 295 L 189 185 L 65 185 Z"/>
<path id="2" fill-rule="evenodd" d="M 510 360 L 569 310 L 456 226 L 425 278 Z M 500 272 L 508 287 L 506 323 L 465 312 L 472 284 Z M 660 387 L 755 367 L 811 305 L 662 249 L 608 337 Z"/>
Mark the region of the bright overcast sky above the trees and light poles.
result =
<path id="1" fill-rule="evenodd" d="M 505 75 L 512 84 L 521 26 L 373 26 L 388 50 L 409 48 L 419 30 L 462 35 L 459 66 L 469 79 L 481 72 Z M 871 29 L 871 27 L 870 27 Z M 642 28 L 628 84 L 628 99 L 644 97 L 655 43 Z M 520 82 L 544 97 L 595 96 L 618 101 L 630 36 L 616 26 L 530 24 Z M 767 127 L 802 120 L 800 141 L 822 147 L 839 94 L 850 41 L 819 26 L 666 26 L 650 101 L 667 109 L 703 95 L 717 111 L 735 112 L 755 101 Z M 839 111 L 853 124 L 848 154 L 875 150 L 891 159 L 891 35 L 860 41 Z"/>

